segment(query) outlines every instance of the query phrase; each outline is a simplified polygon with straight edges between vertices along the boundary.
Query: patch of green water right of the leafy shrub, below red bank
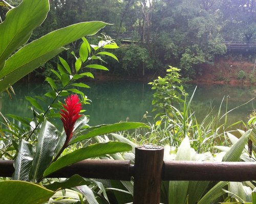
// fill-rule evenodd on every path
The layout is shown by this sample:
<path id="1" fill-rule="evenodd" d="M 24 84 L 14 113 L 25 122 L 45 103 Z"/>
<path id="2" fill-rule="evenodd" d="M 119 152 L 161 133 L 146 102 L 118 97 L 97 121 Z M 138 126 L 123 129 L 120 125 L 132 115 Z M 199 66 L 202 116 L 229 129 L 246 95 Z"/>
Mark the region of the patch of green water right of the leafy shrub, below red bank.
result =
<path id="1" fill-rule="evenodd" d="M 188 93 L 191 95 L 194 88 L 189 88 Z M 223 97 L 227 98 L 227 111 L 236 108 L 251 99 L 250 88 L 248 87 L 232 87 L 232 86 L 198 86 L 193 98 L 191 107 L 195 111 L 197 119 L 202 121 L 208 113 L 210 107 L 214 108 L 212 115 L 216 115 L 219 111 Z M 226 97 L 224 98 L 221 115 L 226 113 Z M 232 124 L 239 120 L 247 121 L 252 111 L 252 104 L 248 103 L 238 109 L 228 113 L 228 123 Z"/>

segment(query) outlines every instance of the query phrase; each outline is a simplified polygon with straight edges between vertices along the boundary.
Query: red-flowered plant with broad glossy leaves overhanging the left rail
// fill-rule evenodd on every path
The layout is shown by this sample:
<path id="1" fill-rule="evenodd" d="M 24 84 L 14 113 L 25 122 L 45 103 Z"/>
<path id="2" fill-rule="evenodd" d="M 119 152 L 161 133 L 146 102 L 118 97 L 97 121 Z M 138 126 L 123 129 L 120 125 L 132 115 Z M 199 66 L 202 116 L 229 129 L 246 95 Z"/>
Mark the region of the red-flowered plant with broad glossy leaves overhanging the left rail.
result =
<path id="1" fill-rule="evenodd" d="M 75 94 L 68 96 L 66 99 L 66 104 L 63 105 L 63 109 L 60 113 L 65 130 L 64 132 L 58 131 L 52 123 L 45 119 L 40 125 L 39 133 L 36 135 L 37 142 L 31 144 L 24 139 L 19 142 L 18 154 L 14 160 L 15 172 L 12 176 L 13 180 L 39 183 L 49 174 L 75 162 L 106 154 L 115 154 L 116 152 L 130 150 L 131 147 L 129 144 L 121 142 L 95 143 L 91 145 L 89 145 L 89 143 L 84 143 L 84 145 L 79 143 L 97 135 L 142 126 L 146 127 L 146 125 L 143 123 L 133 122 L 89 127 L 89 125 L 87 125 L 88 118 L 80 115 L 80 110 L 81 103 L 79 102 L 78 95 Z M 69 151 L 66 149 L 70 145 L 76 146 L 76 150 L 68 153 Z M 82 147 L 78 148 L 78 146 Z M 63 155 L 62 157 L 60 157 L 61 154 Z M 53 195 L 54 191 L 67 188 L 67 182 L 71 182 L 73 184 L 73 186 L 68 185 L 69 188 L 80 186 L 81 184 L 91 184 L 91 182 L 84 180 L 82 177 L 74 176 L 66 182 L 57 183 L 55 185 L 51 184 L 49 186 L 46 185 L 46 188 L 49 188 L 50 191 L 47 189 L 42 189 L 41 187 L 38 189 L 33 189 L 35 192 L 39 193 L 42 191 L 45 192 L 45 194 L 42 194 L 42 197 L 33 197 L 32 201 L 29 200 L 28 203 L 33 203 L 33 201 L 34 203 L 35 201 L 41 203 L 42 201 L 48 200 Z M 28 186 L 28 188 L 33 188 L 32 184 L 30 185 L 30 183 L 14 181 L 8 181 L 3 184 L 1 182 L 0 186 L 1 185 L 3 188 L 14 188 L 14 190 L 17 190 L 17 192 L 20 193 L 26 186 Z M 56 185 L 58 186 L 57 188 Z M 82 191 L 83 188 L 86 190 L 88 187 L 80 187 L 80 191 Z M 6 191 L 1 190 L 1 193 L 2 192 Z M 10 195 L 8 197 L 9 199 L 5 200 L 5 203 L 12 203 L 13 196 Z"/>

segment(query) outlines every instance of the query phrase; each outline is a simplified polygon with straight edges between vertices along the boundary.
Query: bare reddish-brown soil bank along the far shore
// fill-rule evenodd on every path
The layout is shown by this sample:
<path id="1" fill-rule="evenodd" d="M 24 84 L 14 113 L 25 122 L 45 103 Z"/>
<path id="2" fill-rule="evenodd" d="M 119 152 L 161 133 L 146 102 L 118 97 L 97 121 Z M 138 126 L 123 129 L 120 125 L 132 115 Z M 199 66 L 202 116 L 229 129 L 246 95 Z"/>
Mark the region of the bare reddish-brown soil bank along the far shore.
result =
<path id="1" fill-rule="evenodd" d="M 196 69 L 196 75 L 189 83 L 195 84 L 229 84 L 232 86 L 256 85 L 256 67 L 248 60 L 233 60 L 219 58 L 214 64 L 201 64 Z M 255 69 L 255 71 L 253 71 Z M 94 82 L 104 81 L 144 81 L 152 82 L 159 75 L 164 77 L 164 70 L 157 70 L 141 75 L 115 75 L 111 72 L 97 72 Z"/>

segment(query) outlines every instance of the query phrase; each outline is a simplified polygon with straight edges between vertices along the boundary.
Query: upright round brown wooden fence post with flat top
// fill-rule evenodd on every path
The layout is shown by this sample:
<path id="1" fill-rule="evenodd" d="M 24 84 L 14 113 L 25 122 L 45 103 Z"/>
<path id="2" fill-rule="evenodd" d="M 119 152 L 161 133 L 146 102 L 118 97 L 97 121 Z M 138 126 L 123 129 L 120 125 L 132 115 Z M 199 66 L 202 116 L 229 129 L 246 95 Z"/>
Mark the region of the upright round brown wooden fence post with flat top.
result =
<path id="1" fill-rule="evenodd" d="M 143 145 L 135 148 L 133 204 L 159 204 L 164 148 Z"/>

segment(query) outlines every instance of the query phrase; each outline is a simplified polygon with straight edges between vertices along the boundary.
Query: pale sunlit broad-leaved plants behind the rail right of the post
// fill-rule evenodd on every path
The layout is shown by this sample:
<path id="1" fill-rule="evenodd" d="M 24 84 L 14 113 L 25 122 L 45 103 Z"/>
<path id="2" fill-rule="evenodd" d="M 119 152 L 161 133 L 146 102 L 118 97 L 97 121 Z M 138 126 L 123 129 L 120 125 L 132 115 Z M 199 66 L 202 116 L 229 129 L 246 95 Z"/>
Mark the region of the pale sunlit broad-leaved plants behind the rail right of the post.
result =
<path id="1" fill-rule="evenodd" d="M 165 145 L 164 160 L 178 161 L 208 161 L 208 162 L 255 162 L 255 157 L 250 158 L 247 151 L 247 141 L 251 137 L 252 130 L 243 132 L 239 130 L 242 136 L 238 139 L 230 133 L 225 133 L 231 144 L 227 146 L 214 146 L 220 152 L 212 154 L 209 151 L 198 154 L 194 148 L 191 148 L 189 140 L 186 136 L 180 146 Z M 121 135 L 112 134 L 118 141 L 129 143 L 134 147 L 136 143 L 128 140 Z M 159 144 L 160 145 L 160 144 Z M 127 155 L 127 154 L 126 154 Z M 134 155 L 126 156 L 134 158 Z M 131 183 L 132 184 L 132 183 Z M 207 203 L 253 203 L 253 193 L 255 183 L 252 182 L 211 182 L 211 181 L 169 181 L 163 182 L 161 188 L 161 203 L 191 203 L 191 204 L 207 204 Z M 123 192 L 129 192 L 124 187 Z"/>

